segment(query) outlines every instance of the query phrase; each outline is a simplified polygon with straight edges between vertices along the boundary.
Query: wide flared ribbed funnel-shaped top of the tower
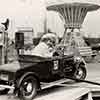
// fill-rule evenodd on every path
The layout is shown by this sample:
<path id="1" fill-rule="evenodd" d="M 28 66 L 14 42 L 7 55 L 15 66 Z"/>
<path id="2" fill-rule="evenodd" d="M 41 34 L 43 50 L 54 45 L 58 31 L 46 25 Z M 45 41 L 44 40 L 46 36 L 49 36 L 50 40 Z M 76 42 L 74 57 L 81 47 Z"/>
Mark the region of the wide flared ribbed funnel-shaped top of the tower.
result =
<path id="1" fill-rule="evenodd" d="M 81 28 L 88 11 L 97 10 L 100 6 L 88 3 L 57 3 L 47 6 L 47 10 L 56 11 L 65 21 L 66 28 Z"/>

